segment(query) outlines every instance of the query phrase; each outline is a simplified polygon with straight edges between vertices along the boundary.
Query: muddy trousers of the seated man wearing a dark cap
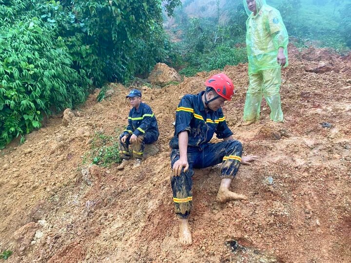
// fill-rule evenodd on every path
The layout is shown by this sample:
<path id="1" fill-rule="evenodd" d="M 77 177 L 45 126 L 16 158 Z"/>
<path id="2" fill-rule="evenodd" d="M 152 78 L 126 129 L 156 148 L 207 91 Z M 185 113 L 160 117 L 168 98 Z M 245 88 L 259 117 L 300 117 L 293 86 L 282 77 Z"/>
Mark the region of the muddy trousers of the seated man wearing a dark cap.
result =
<path id="1" fill-rule="evenodd" d="M 145 149 L 145 144 L 152 144 L 157 141 L 158 134 L 154 132 L 145 132 L 143 135 L 139 135 L 137 138 L 137 143 L 131 144 L 130 137 L 128 136 L 126 142 L 121 141 L 124 133 L 119 136 L 118 148 L 119 148 L 119 157 L 121 159 L 130 159 L 131 157 L 142 159 Z"/>

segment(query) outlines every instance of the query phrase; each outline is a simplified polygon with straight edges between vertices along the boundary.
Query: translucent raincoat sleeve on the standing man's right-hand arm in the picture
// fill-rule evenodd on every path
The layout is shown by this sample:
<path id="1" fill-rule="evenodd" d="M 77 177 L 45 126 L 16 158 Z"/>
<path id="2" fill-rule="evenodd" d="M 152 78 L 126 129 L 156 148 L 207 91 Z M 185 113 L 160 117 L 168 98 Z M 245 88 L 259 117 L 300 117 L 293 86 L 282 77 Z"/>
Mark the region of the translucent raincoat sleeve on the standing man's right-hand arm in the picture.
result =
<path id="1" fill-rule="evenodd" d="M 275 49 L 277 50 L 279 47 L 286 48 L 288 46 L 289 36 L 278 10 L 273 9 L 270 11 L 268 26 Z"/>

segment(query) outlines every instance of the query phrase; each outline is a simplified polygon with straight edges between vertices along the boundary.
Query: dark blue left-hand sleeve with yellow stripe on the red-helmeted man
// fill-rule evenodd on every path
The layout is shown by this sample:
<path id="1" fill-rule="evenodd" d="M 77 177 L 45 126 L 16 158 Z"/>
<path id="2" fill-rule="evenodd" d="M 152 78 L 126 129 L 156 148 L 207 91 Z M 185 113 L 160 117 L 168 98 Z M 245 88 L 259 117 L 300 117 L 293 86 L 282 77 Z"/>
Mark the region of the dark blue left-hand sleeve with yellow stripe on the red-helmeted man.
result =
<path id="1" fill-rule="evenodd" d="M 176 109 L 176 128 L 175 136 L 178 136 L 179 132 L 191 131 L 190 121 L 193 118 L 194 107 L 190 95 L 185 95 L 179 102 Z"/>

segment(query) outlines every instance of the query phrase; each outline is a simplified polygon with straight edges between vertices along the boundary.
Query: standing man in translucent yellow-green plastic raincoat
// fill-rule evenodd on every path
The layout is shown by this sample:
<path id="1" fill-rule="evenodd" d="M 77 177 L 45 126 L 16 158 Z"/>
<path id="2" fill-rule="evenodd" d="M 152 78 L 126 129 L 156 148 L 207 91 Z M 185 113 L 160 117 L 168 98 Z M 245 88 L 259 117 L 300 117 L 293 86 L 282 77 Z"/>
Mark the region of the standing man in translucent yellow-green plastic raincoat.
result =
<path id="1" fill-rule="evenodd" d="M 288 32 L 278 10 L 266 0 L 243 0 L 246 13 L 246 47 L 249 88 L 244 107 L 244 125 L 259 119 L 262 94 L 271 108 L 270 117 L 283 121 L 280 102 L 281 67 L 288 66 Z"/>

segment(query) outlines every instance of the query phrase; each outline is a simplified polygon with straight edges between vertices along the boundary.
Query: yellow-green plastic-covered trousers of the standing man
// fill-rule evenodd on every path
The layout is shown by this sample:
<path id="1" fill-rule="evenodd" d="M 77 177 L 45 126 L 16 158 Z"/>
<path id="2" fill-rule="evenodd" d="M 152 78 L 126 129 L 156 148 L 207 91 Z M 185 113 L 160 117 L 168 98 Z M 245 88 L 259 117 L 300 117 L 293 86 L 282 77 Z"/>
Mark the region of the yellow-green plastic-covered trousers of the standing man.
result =
<path id="1" fill-rule="evenodd" d="M 256 121 L 261 111 L 262 94 L 271 108 L 273 121 L 283 121 L 280 102 L 281 68 L 261 70 L 249 75 L 249 88 L 246 93 L 244 120 Z"/>

